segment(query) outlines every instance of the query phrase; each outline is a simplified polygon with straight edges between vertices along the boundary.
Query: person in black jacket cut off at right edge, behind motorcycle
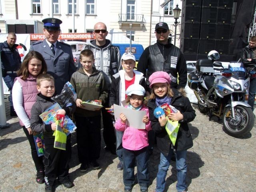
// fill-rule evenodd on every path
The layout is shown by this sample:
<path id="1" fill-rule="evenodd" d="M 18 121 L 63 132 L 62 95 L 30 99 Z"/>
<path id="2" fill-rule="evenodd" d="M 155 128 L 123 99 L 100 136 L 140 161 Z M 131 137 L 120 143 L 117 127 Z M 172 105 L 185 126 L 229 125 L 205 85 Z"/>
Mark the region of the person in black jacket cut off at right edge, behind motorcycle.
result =
<path id="1" fill-rule="evenodd" d="M 252 36 L 249 41 L 249 45 L 243 48 L 241 61 L 248 71 L 251 71 L 256 64 L 256 36 Z M 256 71 L 256 68 L 253 69 Z M 248 104 L 254 110 L 254 100 L 256 95 L 256 77 L 250 78 L 249 92 L 248 92 Z"/>

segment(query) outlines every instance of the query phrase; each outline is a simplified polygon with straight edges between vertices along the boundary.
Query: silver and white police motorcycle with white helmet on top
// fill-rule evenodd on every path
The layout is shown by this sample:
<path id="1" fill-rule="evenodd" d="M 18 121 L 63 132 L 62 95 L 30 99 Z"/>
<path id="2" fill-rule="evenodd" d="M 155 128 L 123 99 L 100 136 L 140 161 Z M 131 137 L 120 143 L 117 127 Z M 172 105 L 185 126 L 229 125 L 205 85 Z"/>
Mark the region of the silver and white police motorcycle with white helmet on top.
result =
<path id="1" fill-rule="evenodd" d="M 196 61 L 196 71 L 188 75 L 188 86 L 194 91 L 201 113 L 222 118 L 225 131 L 234 137 L 250 132 L 254 114 L 250 105 L 243 102 L 249 88 L 250 76 L 241 62 L 230 62 L 228 69 L 218 52 L 210 51 L 208 59 Z M 219 74 L 216 75 L 216 71 Z"/>

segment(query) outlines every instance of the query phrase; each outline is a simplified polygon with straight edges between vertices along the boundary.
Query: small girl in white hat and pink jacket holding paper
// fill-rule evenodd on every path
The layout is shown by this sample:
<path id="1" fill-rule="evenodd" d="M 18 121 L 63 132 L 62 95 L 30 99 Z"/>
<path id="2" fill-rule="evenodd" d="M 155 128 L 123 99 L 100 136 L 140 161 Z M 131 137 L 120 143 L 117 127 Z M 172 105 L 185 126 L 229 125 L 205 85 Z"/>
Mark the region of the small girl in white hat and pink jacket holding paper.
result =
<path id="1" fill-rule="evenodd" d="M 145 89 L 138 84 L 130 85 L 127 90 L 128 105 L 126 108 L 132 110 L 144 110 L 146 115 L 142 119 L 145 123 L 145 129 L 138 129 L 127 125 L 126 116 L 121 113 L 116 121 L 115 128 L 118 131 L 124 131 L 122 138 L 123 163 L 124 163 L 124 191 L 131 192 L 134 184 L 134 167 L 137 160 L 137 177 L 141 192 L 148 191 L 148 131 L 151 130 L 148 118 L 148 108 L 143 104 Z"/>

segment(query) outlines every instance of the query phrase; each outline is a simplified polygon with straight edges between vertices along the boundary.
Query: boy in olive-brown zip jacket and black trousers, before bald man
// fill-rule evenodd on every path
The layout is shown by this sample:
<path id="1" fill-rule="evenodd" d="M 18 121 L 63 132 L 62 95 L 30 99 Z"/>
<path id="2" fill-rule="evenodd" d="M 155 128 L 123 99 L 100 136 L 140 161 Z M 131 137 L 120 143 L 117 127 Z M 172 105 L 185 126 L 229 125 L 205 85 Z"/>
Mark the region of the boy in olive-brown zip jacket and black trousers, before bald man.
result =
<path id="1" fill-rule="evenodd" d="M 108 86 L 104 73 L 93 67 L 94 54 L 91 50 L 80 53 L 80 63 L 82 67 L 72 74 L 70 83 L 77 93 L 75 119 L 80 171 L 86 172 L 89 163 L 92 163 L 94 169 L 100 167 L 96 160 L 100 157 L 101 111 L 100 108 L 86 110 L 82 102 L 100 100 L 104 104 L 108 98 Z"/>

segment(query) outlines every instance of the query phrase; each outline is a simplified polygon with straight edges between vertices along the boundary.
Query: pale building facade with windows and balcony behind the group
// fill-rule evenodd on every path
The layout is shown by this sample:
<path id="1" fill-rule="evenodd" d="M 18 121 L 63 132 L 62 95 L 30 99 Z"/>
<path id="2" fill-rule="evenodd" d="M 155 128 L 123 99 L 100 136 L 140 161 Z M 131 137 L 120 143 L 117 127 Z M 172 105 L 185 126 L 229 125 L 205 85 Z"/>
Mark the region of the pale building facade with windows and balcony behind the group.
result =
<path id="1" fill-rule="evenodd" d="M 50 4 L 53 4 L 52 9 Z M 172 9 L 180 0 L 0 0 L 0 29 L 6 33 L 7 20 L 42 21 L 53 14 L 62 20 L 62 33 L 92 32 L 96 22 L 104 22 L 108 36 L 114 43 L 142 44 L 144 48 L 156 42 L 154 27 L 158 22 L 166 22 L 170 28 L 170 39 L 174 40 L 174 18 Z M 51 14 L 52 10 L 52 14 Z M 177 26 L 176 46 L 179 46 L 180 25 Z"/>

